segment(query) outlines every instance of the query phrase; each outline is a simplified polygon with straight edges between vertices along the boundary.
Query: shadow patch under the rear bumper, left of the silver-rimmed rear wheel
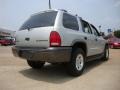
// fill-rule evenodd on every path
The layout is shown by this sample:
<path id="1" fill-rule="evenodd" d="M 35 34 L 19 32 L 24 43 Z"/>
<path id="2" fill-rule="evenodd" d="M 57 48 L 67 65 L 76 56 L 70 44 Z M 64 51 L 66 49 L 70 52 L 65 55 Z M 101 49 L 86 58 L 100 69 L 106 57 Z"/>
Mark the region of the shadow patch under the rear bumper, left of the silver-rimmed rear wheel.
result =
<path id="1" fill-rule="evenodd" d="M 61 65 L 45 65 L 45 67 L 35 70 L 32 68 L 19 71 L 27 78 L 31 78 L 37 81 L 44 81 L 50 83 L 63 83 L 74 79 L 69 76 L 66 70 Z"/>

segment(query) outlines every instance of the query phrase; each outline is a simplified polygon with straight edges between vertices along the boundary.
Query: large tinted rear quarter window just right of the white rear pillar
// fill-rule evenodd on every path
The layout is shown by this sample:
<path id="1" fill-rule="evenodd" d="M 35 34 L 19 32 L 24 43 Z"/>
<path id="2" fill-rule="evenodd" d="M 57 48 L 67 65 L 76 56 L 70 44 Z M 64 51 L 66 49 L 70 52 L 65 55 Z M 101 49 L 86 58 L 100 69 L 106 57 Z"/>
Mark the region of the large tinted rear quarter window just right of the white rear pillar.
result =
<path id="1" fill-rule="evenodd" d="M 65 28 L 79 30 L 77 18 L 67 13 L 63 14 L 63 26 Z"/>

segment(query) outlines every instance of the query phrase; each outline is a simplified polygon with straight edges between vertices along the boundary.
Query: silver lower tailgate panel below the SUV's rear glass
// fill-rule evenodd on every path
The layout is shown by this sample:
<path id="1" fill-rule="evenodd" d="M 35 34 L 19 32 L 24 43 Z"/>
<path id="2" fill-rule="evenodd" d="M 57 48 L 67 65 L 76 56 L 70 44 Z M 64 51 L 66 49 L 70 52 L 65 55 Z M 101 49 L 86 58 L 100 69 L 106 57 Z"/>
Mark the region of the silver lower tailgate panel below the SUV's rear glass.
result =
<path id="1" fill-rule="evenodd" d="M 48 47 L 52 30 L 53 27 L 42 27 L 18 31 L 16 34 L 16 45 L 23 47 Z"/>

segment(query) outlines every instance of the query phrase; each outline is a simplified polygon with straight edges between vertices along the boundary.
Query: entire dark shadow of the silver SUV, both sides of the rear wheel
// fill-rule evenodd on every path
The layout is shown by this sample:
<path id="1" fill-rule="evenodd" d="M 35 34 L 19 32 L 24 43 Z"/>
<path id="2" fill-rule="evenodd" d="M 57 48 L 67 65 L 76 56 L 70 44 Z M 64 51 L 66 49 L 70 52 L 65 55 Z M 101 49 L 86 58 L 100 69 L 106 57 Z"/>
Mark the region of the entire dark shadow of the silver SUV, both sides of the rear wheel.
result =
<path id="1" fill-rule="evenodd" d="M 101 65 L 102 63 L 103 61 L 100 61 L 100 60 L 87 62 L 85 71 L 82 74 L 82 76 L 84 76 L 86 73 L 88 73 L 93 68 Z M 62 65 L 49 64 L 49 65 L 45 65 L 44 68 L 41 68 L 38 70 L 29 68 L 29 69 L 21 70 L 19 72 L 27 78 L 37 80 L 37 81 L 55 83 L 55 84 L 65 83 L 65 82 L 68 82 L 68 81 L 71 81 L 77 78 L 77 77 L 72 77 L 68 75 L 66 72 L 66 68 L 63 67 Z"/>

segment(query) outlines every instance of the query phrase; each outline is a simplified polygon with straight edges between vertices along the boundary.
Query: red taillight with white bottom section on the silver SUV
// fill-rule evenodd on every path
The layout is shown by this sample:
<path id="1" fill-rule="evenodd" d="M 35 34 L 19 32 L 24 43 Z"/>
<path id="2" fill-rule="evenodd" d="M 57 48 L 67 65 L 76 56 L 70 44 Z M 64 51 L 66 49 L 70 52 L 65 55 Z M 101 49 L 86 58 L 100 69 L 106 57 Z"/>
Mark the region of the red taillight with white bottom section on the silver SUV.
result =
<path id="1" fill-rule="evenodd" d="M 61 37 L 56 31 L 50 33 L 50 46 L 61 46 Z"/>

